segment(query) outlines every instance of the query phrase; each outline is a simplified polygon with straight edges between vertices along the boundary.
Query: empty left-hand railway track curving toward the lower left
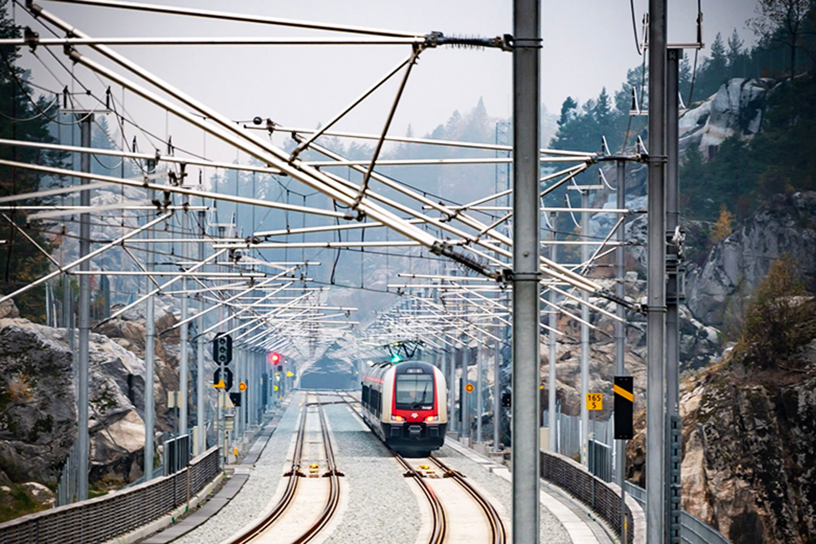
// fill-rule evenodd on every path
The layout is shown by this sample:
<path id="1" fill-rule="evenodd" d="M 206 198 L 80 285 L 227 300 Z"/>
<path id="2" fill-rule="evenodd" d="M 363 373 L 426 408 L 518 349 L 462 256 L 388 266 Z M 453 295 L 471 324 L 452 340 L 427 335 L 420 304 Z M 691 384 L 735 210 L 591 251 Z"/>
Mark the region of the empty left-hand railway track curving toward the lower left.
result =
<path id="1" fill-rule="evenodd" d="M 273 506 L 273 509 L 269 511 L 267 515 L 264 515 L 263 519 L 259 520 L 251 528 L 246 529 L 237 537 L 234 537 L 233 540 L 229 541 L 230 544 L 245 544 L 247 542 L 259 542 L 262 539 L 265 540 L 263 538 L 264 534 L 268 533 L 273 525 L 282 520 L 286 516 L 287 512 L 291 510 L 290 506 L 292 506 L 297 499 L 298 490 L 301 487 L 301 480 L 309 476 L 314 477 L 319 475 L 316 474 L 318 467 L 317 463 L 313 463 L 308 467 L 308 475 L 304 473 L 303 470 L 306 421 L 308 419 L 310 409 L 313 409 L 313 411 L 317 413 L 320 421 L 323 455 L 326 462 L 326 471 L 323 472 L 322 477 L 326 478 L 329 482 L 328 493 L 326 495 L 326 502 L 323 505 L 322 511 L 317 516 L 317 520 L 315 520 L 313 524 L 310 524 L 308 528 L 305 529 L 299 536 L 294 537 L 287 542 L 293 542 L 293 544 L 306 544 L 307 542 L 311 542 L 313 538 L 316 537 L 324 527 L 326 527 L 326 524 L 329 523 L 332 515 L 334 515 L 335 511 L 337 511 L 337 506 L 340 500 L 339 477 L 342 476 L 343 473 L 337 469 L 335 453 L 331 445 L 331 436 L 329 433 L 329 427 L 326 424 L 326 414 L 323 411 L 322 403 L 319 401 L 307 402 L 305 403 L 304 411 L 300 416 L 297 437 L 295 439 L 295 451 L 292 455 L 292 462 L 289 470 L 284 473 L 284 476 L 288 478 L 288 480 L 286 480 L 286 487 L 284 488 L 282 497 L 278 500 L 275 506 Z M 283 541 L 279 537 L 276 537 L 274 542 Z"/>

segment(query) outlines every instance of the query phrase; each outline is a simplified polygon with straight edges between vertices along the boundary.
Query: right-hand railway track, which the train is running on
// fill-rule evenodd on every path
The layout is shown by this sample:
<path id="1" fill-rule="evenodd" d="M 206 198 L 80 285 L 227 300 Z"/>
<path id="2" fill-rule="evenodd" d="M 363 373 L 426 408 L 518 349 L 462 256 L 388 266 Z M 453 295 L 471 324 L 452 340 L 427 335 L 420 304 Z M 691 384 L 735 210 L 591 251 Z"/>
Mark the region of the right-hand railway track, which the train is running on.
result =
<path id="1" fill-rule="evenodd" d="M 336 394 L 343 399 L 362 420 L 361 414 L 355 407 L 355 404 L 358 404 L 358 400 L 348 394 L 347 391 L 336 391 Z M 388 448 L 387 445 L 386 448 Z M 440 493 L 435 492 L 433 489 L 434 486 L 428 483 L 428 480 L 437 478 L 455 481 L 456 484 L 467 493 L 468 497 L 472 499 L 472 502 L 476 503 L 489 527 L 490 540 L 488 542 L 490 542 L 490 544 L 506 544 L 506 542 L 508 542 L 507 531 L 504 528 L 504 523 L 499 512 L 496 511 L 493 504 L 483 494 L 468 483 L 465 476 L 459 471 L 448 467 L 445 462 L 442 462 L 441 459 L 433 455 L 428 456 L 428 458 L 411 458 L 409 461 L 391 448 L 388 448 L 388 451 L 397 459 L 397 462 L 406 469 L 406 477 L 411 477 L 415 480 L 425 498 L 428 499 L 432 513 L 432 527 L 428 538 L 429 544 L 448 542 L 453 537 L 453 531 L 448 523 L 445 507 L 440 500 Z M 432 466 L 441 471 L 441 476 L 437 473 L 436 469 L 431 468 Z M 481 532 L 479 533 L 482 534 Z"/>

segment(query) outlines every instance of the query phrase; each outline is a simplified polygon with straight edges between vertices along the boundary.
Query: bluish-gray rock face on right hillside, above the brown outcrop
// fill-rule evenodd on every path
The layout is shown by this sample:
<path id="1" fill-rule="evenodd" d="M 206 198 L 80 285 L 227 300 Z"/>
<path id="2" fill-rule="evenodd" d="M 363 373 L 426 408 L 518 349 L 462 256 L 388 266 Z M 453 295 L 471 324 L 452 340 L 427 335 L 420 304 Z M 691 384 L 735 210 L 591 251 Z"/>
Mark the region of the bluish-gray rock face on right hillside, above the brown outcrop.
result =
<path id="1" fill-rule="evenodd" d="M 816 291 L 816 192 L 776 195 L 715 245 L 703 264 L 690 267 L 686 302 L 694 317 L 722 325 L 730 297 L 756 289 L 783 254 L 797 261 L 805 288 Z"/>

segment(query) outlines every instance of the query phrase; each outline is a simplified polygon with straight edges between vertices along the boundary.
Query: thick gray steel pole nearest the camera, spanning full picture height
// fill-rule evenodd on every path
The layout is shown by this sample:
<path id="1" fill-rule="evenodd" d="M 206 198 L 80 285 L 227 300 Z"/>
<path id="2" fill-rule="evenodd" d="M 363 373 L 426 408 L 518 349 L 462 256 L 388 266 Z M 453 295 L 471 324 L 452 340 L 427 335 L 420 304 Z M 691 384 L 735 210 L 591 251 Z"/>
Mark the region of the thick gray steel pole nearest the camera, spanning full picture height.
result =
<path id="1" fill-rule="evenodd" d="M 539 542 L 539 0 L 513 2 L 512 539 Z"/>

